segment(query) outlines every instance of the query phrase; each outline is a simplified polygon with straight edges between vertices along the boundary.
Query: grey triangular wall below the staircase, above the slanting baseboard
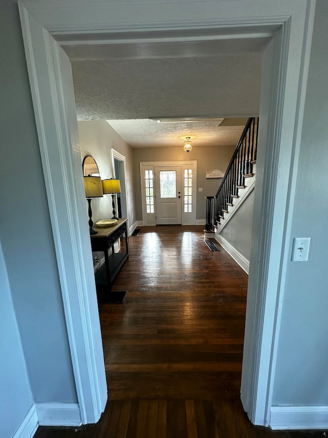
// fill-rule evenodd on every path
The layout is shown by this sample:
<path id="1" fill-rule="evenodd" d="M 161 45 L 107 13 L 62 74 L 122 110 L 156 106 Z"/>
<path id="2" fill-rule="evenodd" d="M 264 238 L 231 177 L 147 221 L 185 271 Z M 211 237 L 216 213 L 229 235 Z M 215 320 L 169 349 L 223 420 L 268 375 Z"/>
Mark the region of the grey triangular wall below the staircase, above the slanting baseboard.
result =
<path id="1" fill-rule="evenodd" d="M 243 200 L 226 226 L 219 232 L 242 256 L 250 261 L 254 191 Z"/>

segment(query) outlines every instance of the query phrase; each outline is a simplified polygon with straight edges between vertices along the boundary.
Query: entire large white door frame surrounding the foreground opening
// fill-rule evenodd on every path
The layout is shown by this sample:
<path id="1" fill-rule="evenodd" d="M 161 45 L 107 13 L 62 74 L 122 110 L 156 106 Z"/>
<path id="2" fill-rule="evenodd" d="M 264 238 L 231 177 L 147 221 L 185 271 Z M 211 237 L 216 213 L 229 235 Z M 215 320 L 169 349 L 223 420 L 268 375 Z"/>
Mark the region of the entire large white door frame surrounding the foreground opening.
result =
<path id="1" fill-rule="evenodd" d="M 210 0 L 206 7 L 201 1 L 97 1 L 19 3 L 82 422 L 97 421 L 107 394 L 92 261 L 86 256 L 90 240 L 87 227 L 80 224 L 87 223 L 87 217 L 80 202 L 84 196 L 72 75 L 60 46 L 78 51 L 88 45 L 101 51 L 111 42 L 268 36 L 272 43 L 263 68 L 268 71 L 271 64 L 272 69 L 270 79 L 263 75 L 261 84 L 261 184 L 255 193 L 255 203 L 262 208 L 254 211 L 258 229 L 250 263 L 252 299 L 247 306 L 241 397 L 253 423 L 270 425 L 315 0 Z"/>

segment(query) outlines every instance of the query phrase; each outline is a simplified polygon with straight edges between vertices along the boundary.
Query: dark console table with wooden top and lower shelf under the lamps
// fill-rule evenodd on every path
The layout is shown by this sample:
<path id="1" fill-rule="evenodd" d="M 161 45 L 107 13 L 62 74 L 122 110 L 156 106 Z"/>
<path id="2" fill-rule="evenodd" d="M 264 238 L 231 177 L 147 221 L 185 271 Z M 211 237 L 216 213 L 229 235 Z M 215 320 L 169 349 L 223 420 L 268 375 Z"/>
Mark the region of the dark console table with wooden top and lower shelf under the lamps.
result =
<path id="1" fill-rule="evenodd" d="M 127 220 L 118 219 L 115 225 L 108 228 L 95 227 L 98 233 L 90 235 L 92 251 L 103 251 L 105 254 L 105 264 L 95 274 L 98 299 L 101 302 L 121 303 L 127 294 L 127 291 L 112 291 L 116 275 L 129 258 Z M 115 253 L 114 243 L 123 235 L 126 252 Z M 111 254 L 108 254 L 110 249 Z"/>

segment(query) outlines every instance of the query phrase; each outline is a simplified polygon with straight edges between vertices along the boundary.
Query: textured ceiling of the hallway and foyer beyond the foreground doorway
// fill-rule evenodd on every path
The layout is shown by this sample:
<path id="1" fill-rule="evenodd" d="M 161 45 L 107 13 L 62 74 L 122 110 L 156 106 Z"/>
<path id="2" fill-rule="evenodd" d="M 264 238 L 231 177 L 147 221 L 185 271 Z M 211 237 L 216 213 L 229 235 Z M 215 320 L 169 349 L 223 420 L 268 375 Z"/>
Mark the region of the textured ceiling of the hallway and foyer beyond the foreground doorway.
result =
<path id="1" fill-rule="evenodd" d="M 173 53 L 173 46 L 161 46 L 160 53 L 147 46 L 146 58 L 129 58 L 117 48 L 111 59 L 103 59 L 103 54 L 90 59 L 90 48 L 86 59 L 73 56 L 78 120 L 106 119 L 132 147 L 179 146 L 179 138 L 189 135 L 196 137 L 194 146 L 236 144 L 242 125 L 237 127 L 232 118 L 259 113 L 261 50 L 226 53 L 228 46 L 222 45 L 223 52 L 214 55 L 217 46 L 210 45 L 209 54 L 202 44 L 193 55 L 188 47 L 187 55 L 185 46 L 183 55 Z M 220 126 L 148 120 L 155 117 L 225 120 Z"/>

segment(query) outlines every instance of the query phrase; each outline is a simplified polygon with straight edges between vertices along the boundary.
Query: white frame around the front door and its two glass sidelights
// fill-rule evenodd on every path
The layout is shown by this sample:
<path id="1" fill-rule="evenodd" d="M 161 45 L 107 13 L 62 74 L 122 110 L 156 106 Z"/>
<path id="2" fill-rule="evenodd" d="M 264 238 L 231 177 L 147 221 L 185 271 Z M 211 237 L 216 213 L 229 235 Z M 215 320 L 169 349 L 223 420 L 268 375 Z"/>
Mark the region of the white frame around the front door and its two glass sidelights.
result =
<path id="1" fill-rule="evenodd" d="M 191 168 L 193 171 L 193 190 L 192 190 L 192 213 L 185 214 L 182 212 L 183 194 L 181 194 L 181 224 L 196 225 L 196 207 L 197 207 L 197 161 L 141 161 L 140 162 L 140 187 L 142 203 L 142 225 L 156 225 L 156 202 L 154 202 L 155 213 L 146 211 L 146 193 L 145 193 L 145 170 L 151 169 L 154 172 L 156 166 L 170 167 L 181 166 L 181 193 L 183 191 L 183 171 L 185 168 Z M 154 177 L 154 195 L 155 195 L 155 177 Z"/>

